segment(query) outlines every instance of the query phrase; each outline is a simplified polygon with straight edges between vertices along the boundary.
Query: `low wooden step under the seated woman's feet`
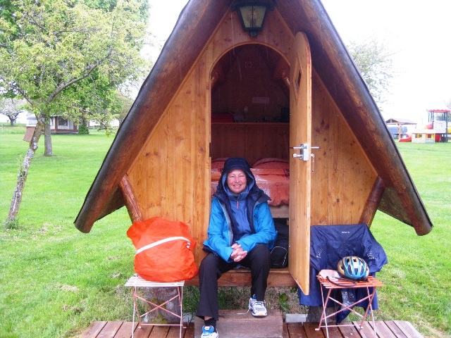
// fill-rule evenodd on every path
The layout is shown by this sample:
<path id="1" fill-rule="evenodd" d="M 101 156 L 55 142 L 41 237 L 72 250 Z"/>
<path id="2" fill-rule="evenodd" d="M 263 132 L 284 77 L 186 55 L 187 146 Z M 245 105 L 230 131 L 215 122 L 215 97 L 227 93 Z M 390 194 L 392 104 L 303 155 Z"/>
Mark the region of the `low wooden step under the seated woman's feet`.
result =
<path id="1" fill-rule="evenodd" d="M 283 317 L 278 310 L 268 310 L 264 318 L 255 318 L 247 310 L 220 310 L 216 323 L 221 338 L 282 338 Z M 246 313 L 239 315 L 237 313 Z M 194 337 L 200 337 L 204 320 L 194 319 Z"/>

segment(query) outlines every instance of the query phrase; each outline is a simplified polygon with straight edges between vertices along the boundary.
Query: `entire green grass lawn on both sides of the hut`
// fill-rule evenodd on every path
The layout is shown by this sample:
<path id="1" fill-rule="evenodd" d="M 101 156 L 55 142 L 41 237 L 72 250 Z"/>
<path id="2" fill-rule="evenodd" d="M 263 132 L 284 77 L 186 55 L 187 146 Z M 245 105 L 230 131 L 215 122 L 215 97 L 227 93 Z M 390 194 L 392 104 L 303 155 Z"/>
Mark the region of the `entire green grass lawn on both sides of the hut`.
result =
<path id="1" fill-rule="evenodd" d="M 18 166 L 27 149 L 24 127 L 0 130 L 0 221 L 8 214 Z M 77 337 L 96 320 L 132 319 L 134 247 L 125 208 L 75 229 L 85 195 L 112 139 L 100 132 L 54 135 L 30 168 L 18 227 L 0 230 L 0 337 Z M 43 141 L 43 140 L 42 140 Z M 399 144 L 435 227 L 412 227 L 377 213 L 371 231 L 388 254 L 378 278 L 378 320 L 409 320 L 425 337 L 451 334 L 451 143 Z M 189 298 L 189 297 L 188 297 Z"/>

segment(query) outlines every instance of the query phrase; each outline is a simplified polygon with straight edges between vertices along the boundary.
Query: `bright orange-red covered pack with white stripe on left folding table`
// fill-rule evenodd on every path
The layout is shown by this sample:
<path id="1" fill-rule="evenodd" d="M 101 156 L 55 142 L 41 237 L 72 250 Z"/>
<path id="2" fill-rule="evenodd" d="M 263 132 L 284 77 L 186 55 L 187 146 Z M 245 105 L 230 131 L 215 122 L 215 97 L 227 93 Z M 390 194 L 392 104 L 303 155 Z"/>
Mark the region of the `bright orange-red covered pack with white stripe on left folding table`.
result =
<path id="1" fill-rule="evenodd" d="M 127 236 L 136 248 L 135 273 L 144 280 L 180 282 L 197 275 L 196 241 L 185 223 L 149 218 L 133 223 Z"/>

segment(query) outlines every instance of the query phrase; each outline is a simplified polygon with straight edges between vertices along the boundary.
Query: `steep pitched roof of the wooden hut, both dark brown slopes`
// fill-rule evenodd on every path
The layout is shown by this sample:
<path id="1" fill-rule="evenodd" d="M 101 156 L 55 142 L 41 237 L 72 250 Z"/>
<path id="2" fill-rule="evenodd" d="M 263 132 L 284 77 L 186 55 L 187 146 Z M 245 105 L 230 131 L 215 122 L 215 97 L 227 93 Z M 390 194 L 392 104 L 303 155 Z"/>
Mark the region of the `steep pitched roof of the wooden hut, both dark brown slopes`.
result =
<path id="1" fill-rule="evenodd" d="M 96 220 L 124 205 L 118 188 L 121 178 L 232 4 L 233 0 L 190 0 L 180 13 L 87 193 L 75 220 L 80 231 L 89 232 Z M 307 34 L 316 73 L 383 180 L 379 210 L 412 225 L 417 234 L 430 232 L 433 225 L 412 178 L 321 1 L 278 0 L 276 9 L 293 34 Z"/>

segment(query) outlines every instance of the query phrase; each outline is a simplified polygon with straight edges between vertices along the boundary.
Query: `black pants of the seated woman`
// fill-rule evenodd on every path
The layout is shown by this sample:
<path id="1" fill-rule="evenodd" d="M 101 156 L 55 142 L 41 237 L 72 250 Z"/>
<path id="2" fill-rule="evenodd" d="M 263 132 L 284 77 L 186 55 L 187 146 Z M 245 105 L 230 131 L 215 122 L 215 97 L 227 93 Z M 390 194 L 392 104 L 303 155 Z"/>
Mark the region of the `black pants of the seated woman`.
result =
<path id="1" fill-rule="evenodd" d="M 268 246 L 257 244 L 239 263 L 228 263 L 217 254 L 209 253 L 199 267 L 200 299 L 196 311 L 198 317 L 213 317 L 218 320 L 218 279 L 223 273 L 232 270 L 238 264 L 251 269 L 251 297 L 255 294 L 257 301 L 264 301 L 271 265 Z"/>

